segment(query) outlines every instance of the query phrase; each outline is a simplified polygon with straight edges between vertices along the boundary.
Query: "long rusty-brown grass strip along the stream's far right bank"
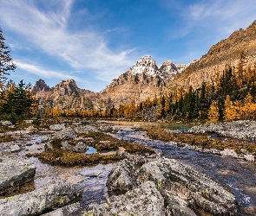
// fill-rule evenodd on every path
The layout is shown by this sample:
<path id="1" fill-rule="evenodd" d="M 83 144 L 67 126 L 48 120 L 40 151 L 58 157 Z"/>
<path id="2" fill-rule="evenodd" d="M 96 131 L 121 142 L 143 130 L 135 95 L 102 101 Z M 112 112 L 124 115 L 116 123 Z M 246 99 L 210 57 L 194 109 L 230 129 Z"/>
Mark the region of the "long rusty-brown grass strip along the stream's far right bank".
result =
<path id="1" fill-rule="evenodd" d="M 171 133 L 163 129 L 143 129 L 147 131 L 148 137 L 159 139 L 165 142 L 175 142 L 181 145 L 185 143 L 189 145 L 196 145 L 203 149 L 233 149 L 237 153 L 241 153 L 240 149 L 246 149 L 250 154 L 256 154 L 255 143 L 246 143 L 235 139 L 214 139 L 204 135 L 194 135 L 187 133 Z"/>

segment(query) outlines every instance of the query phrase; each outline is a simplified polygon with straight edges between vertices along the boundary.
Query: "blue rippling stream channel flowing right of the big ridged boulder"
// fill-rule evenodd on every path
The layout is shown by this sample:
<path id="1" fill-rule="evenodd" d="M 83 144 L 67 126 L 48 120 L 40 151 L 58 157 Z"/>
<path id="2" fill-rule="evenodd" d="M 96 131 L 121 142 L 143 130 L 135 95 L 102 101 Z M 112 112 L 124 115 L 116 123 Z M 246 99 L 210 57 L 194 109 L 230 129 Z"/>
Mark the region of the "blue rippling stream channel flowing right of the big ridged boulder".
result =
<path id="1" fill-rule="evenodd" d="M 240 215 L 256 215 L 255 163 L 228 156 L 202 153 L 178 146 L 175 143 L 152 140 L 147 137 L 146 132 L 131 130 L 126 125 L 112 135 L 129 142 L 146 145 L 161 153 L 162 156 L 176 159 L 210 176 L 236 196 L 240 206 Z"/>

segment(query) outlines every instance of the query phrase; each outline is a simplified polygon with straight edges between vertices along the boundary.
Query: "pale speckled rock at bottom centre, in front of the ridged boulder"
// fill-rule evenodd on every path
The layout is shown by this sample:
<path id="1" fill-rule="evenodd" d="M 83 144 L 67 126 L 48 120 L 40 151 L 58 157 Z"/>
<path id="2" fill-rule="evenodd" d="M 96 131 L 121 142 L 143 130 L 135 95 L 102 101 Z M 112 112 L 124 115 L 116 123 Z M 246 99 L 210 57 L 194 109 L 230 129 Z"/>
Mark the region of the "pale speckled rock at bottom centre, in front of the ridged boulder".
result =
<path id="1" fill-rule="evenodd" d="M 126 194 L 112 196 L 101 205 L 90 204 L 86 210 L 84 215 L 165 215 L 164 199 L 152 181 L 146 181 Z"/>

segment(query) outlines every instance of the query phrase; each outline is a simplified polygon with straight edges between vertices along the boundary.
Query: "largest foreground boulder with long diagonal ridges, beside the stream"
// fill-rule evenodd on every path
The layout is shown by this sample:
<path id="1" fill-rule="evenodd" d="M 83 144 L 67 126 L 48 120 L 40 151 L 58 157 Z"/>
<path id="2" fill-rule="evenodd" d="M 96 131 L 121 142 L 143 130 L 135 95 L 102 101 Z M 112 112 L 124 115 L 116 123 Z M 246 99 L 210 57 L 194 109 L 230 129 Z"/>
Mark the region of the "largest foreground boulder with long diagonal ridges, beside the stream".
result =
<path id="1" fill-rule="evenodd" d="M 207 175 L 174 159 L 161 158 L 144 164 L 138 172 L 138 179 L 141 183 L 154 181 L 172 211 L 182 206 L 186 212 L 184 215 L 190 215 L 187 214 L 188 207 L 191 211 L 200 208 L 213 215 L 235 215 L 237 212 L 233 194 Z"/>

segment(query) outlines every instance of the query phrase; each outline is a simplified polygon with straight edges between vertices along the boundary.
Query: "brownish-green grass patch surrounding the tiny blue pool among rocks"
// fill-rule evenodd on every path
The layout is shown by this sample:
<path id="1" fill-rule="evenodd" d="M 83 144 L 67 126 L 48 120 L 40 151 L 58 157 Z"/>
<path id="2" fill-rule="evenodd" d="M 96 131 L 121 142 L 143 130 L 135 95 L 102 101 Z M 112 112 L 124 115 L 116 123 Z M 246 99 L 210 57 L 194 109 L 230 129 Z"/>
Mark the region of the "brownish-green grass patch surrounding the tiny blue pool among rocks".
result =
<path id="1" fill-rule="evenodd" d="M 153 149 L 149 149 L 140 144 L 122 141 L 102 132 L 89 132 L 89 134 L 83 135 L 83 138 L 86 137 L 94 138 L 95 142 L 91 145 L 93 145 L 98 152 L 113 151 L 117 150 L 119 147 L 123 147 L 128 153 L 154 153 Z M 89 166 L 97 163 L 116 162 L 123 159 L 123 157 L 117 153 L 111 155 L 101 155 L 99 153 L 86 155 L 85 153 L 76 153 L 70 150 L 62 150 L 61 147 L 63 141 L 64 140 L 62 139 L 54 139 L 50 141 L 53 149 L 47 149 L 42 153 L 28 154 L 27 156 L 36 156 L 42 162 L 66 167 Z M 102 141 L 105 141 L 105 143 Z M 77 141 L 68 142 L 74 145 Z"/>

